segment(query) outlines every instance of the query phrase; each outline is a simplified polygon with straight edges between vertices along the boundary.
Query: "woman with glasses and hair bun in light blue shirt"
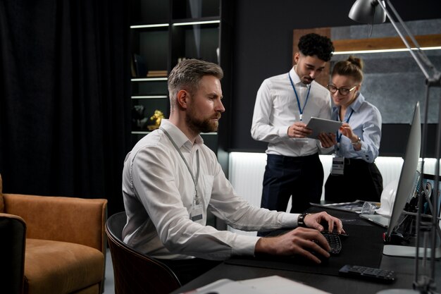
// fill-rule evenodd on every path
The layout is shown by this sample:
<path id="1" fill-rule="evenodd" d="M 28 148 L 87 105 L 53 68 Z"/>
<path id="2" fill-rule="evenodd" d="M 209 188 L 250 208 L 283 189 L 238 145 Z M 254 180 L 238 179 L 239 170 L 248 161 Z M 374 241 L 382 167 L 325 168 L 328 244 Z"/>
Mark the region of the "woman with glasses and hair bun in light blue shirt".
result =
<path id="1" fill-rule="evenodd" d="M 328 85 L 333 98 L 332 119 L 341 121 L 336 134 L 321 134 L 323 147 L 335 149 L 333 167 L 325 183 L 325 200 L 380 202 L 383 178 L 374 161 L 381 138 L 381 114 L 359 92 L 363 61 L 354 56 L 335 63 Z"/>

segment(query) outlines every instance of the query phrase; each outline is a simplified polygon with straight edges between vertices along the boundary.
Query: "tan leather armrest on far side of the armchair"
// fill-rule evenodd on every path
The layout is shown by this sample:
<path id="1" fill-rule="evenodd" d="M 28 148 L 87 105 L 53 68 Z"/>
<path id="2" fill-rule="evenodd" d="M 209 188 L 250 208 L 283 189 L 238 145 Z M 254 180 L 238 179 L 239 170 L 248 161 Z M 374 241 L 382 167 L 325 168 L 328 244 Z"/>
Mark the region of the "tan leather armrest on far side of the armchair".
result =
<path id="1" fill-rule="evenodd" d="M 4 194 L 7 214 L 22 217 L 27 238 L 56 240 L 106 252 L 107 200 Z"/>

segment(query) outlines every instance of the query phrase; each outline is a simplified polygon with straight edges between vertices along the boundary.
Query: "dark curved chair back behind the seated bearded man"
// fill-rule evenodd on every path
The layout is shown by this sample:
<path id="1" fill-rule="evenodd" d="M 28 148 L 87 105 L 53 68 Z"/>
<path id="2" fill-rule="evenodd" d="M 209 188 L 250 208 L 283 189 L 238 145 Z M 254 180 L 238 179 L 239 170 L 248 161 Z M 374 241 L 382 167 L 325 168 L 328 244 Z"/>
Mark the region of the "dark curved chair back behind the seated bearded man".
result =
<path id="1" fill-rule="evenodd" d="M 165 294 L 179 288 L 178 278 L 166 264 L 123 243 L 121 234 L 125 222 L 125 212 L 113 214 L 106 221 L 115 294 Z"/>

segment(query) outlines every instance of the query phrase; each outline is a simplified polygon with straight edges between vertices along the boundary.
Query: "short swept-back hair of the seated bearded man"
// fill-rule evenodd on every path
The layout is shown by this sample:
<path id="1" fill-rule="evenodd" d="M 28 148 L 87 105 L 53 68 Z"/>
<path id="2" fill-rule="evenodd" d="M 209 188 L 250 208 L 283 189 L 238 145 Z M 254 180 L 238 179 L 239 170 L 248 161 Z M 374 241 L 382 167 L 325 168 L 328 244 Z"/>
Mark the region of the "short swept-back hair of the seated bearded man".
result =
<path id="1" fill-rule="evenodd" d="M 185 59 L 173 68 L 168 75 L 168 94 L 172 109 L 175 106 L 176 94 L 180 90 L 187 90 L 190 94 L 197 92 L 199 82 L 204 75 L 214 75 L 221 80 L 223 71 L 216 63 L 199 59 Z"/>

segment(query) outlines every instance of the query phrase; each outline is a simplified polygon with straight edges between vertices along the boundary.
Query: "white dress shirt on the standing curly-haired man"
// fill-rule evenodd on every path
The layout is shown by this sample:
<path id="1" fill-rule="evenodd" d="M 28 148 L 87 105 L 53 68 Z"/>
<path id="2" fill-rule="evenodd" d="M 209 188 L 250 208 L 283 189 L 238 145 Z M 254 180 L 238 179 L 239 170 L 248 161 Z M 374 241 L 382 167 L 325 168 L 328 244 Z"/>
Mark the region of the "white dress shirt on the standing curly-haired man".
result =
<path id="1" fill-rule="evenodd" d="M 316 81 L 311 82 L 305 106 L 308 86 L 301 82 L 294 67 L 289 74 L 303 109 L 302 121 L 307 124 L 313 116 L 330 119 L 331 99 L 328 89 Z M 321 149 L 319 140 L 288 136 L 288 127 L 296 121 L 300 121 L 300 111 L 288 73 L 263 80 L 254 105 L 251 125 L 254 140 L 268 142 L 267 154 L 300 157 L 317 153 Z M 323 152 L 327 153 L 328 150 L 324 149 Z"/>

